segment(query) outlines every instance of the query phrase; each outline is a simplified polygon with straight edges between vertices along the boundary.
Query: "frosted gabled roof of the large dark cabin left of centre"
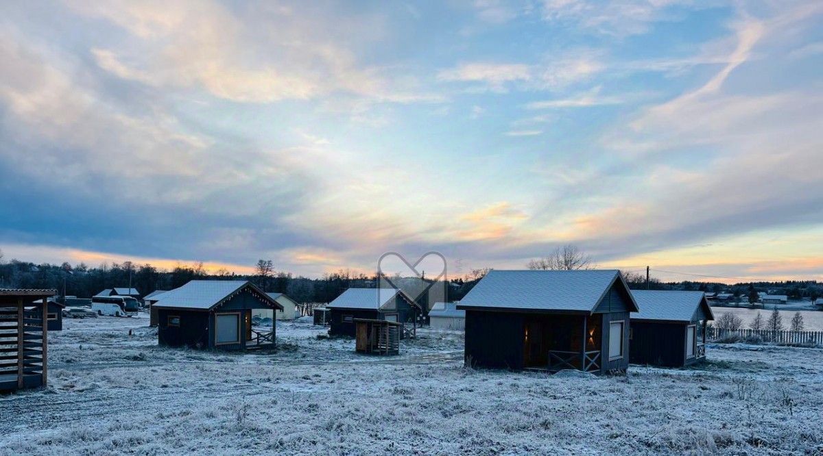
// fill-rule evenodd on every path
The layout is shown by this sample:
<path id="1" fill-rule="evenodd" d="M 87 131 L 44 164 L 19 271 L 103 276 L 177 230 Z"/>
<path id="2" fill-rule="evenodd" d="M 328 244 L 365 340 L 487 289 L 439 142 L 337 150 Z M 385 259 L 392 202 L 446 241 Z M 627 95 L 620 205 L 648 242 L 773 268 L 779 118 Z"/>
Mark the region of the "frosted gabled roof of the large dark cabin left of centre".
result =
<path id="1" fill-rule="evenodd" d="M 270 307 L 283 308 L 266 293 L 259 292 L 258 288 L 248 280 L 192 280 L 180 288 L 174 288 L 160 295 L 160 300 L 154 306 L 207 311 L 247 286 L 269 302 Z"/>

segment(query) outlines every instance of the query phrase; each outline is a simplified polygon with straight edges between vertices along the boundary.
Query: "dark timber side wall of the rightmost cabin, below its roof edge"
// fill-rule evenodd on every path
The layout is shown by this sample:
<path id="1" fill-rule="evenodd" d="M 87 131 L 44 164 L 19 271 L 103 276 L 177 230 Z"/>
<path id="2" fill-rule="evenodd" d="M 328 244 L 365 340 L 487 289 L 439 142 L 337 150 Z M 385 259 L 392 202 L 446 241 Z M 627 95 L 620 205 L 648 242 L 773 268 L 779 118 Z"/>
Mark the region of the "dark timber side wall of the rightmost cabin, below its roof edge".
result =
<path id="1" fill-rule="evenodd" d="M 632 321 L 631 362 L 654 366 L 686 365 L 686 324 Z"/>

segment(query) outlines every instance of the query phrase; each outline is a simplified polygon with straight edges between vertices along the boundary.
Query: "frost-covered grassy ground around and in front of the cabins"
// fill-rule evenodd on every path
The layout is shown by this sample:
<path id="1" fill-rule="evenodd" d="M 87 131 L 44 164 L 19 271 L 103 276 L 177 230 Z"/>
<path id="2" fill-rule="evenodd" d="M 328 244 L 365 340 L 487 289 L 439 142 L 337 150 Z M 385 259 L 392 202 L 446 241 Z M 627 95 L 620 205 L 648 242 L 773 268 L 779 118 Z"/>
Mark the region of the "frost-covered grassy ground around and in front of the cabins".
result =
<path id="1" fill-rule="evenodd" d="M 66 320 L 49 387 L 0 396 L 0 454 L 823 452 L 818 349 L 597 378 L 467 370 L 459 333 L 370 357 L 286 323 L 279 352 L 238 354 L 158 348 L 146 321 Z"/>

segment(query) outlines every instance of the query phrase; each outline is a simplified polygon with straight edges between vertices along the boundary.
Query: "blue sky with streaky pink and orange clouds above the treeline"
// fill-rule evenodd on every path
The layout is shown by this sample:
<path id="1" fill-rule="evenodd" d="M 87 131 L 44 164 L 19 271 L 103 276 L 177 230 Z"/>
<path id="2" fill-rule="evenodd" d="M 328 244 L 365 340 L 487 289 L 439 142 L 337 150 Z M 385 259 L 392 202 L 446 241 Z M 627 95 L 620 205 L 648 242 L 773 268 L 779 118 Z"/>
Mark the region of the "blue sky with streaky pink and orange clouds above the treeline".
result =
<path id="1" fill-rule="evenodd" d="M 0 249 L 307 276 L 437 251 L 454 276 L 573 244 L 823 280 L 821 25 L 819 1 L 2 2 Z"/>

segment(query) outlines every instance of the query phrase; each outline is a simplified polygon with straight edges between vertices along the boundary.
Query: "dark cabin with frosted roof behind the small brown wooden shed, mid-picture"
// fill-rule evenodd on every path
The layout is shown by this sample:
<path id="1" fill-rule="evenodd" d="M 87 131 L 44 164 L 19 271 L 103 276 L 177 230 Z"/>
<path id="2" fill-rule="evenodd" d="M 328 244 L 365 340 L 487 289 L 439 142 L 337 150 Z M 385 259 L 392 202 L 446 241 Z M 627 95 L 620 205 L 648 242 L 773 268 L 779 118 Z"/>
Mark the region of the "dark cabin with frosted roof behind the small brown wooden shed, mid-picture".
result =
<path id="1" fill-rule="evenodd" d="M 326 306 L 328 334 L 355 337 L 355 319 L 414 324 L 420 308 L 396 288 L 349 288 Z M 401 331 L 401 337 L 402 337 Z"/>

